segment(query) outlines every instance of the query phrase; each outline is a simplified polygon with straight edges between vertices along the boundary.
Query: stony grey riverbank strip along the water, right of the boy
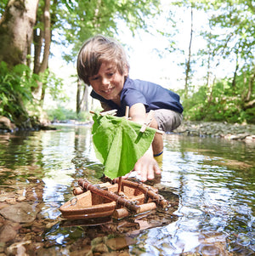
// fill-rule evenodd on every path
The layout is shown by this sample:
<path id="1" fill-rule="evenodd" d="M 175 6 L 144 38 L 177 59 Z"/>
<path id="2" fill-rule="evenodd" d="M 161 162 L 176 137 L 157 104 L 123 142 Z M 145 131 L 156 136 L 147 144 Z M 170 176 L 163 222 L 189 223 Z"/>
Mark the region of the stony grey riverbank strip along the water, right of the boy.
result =
<path id="1" fill-rule="evenodd" d="M 189 136 L 243 140 L 245 142 L 255 143 L 254 124 L 184 121 L 173 133 Z"/>

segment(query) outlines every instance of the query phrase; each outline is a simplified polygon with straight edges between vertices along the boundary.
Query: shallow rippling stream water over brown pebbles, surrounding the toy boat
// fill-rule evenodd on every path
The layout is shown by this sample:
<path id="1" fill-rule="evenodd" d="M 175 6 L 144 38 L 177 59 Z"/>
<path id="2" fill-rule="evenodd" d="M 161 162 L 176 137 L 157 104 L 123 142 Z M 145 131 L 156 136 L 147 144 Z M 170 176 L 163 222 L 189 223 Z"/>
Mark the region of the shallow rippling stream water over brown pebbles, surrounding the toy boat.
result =
<path id="1" fill-rule="evenodd" d="M 0 216 L 0 255 L 19 248 L 28 255 L 254 255 L 254 145 L 175 134 L 165 134 L 164 144 L 152 185 L 178 202 L 174 214 L 89 226 L 61 220 L 59 206 L 77 179 L 98 183 L 103 175 L 90 128 L 0 135 L 0 211 L 29 202 L 36 213 L 15 224 Z"/>

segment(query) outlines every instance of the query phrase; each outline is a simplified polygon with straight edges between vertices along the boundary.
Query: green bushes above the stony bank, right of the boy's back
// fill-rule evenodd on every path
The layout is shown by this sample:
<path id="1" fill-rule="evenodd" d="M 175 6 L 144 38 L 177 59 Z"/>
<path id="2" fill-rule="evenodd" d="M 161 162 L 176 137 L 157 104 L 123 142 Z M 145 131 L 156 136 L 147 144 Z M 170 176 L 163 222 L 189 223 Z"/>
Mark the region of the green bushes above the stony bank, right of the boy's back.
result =
<path id="1" fill-rule="evenodd" d="M 244 92 L 246 85 L 243 77 L 237 77 L 235 87 L 232 82 L 218 81 L 208 95 L 207 86 L 201 86 L 197 92 L 184 100 L 184 117 L 191 121 L 248 122 L 255 123 L 255 108 L 246 108 Z M 254 89 L 252 99 L 254 100 Z M 181 93 L 181 92 L 179 92 Z"/>

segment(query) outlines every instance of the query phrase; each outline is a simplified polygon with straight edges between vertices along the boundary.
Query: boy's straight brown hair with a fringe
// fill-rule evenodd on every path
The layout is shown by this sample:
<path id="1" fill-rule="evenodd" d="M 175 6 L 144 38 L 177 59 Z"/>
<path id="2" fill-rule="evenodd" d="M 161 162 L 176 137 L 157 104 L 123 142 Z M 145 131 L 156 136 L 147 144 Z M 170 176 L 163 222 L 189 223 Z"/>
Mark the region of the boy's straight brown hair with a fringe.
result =
<path id="1" fill-rule="evenodd" d="M 117 70 L 122 75 L 129 64 L 122 45 L 112 38 L 104 36 L 91 37 L 86 41 L 77 58 L 77 73 L 83 82 L 89 85 L 88 78 L 99 72 L 103 62 L 116 64 Z"/>

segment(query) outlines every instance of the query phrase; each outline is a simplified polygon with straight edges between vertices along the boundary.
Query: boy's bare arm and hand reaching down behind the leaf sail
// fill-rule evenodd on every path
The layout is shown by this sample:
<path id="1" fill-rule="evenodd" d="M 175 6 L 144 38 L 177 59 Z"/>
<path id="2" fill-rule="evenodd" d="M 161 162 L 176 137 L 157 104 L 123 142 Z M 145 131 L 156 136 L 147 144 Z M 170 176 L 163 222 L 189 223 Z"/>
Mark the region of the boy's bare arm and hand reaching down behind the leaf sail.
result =
<path id="1" fill-rule="evenodd" d="M 130 107 L 129 117 L 131 117 L 133 122 L 138 122 L 144 124 L 146 120 L 146 110 L 142 103 L 134 104 Z M 156 174 L 161 174 L 161 169 L 158 167 L 156 160 L 153 157 L 152 146 L 148 151 L 144 153 L 144 156 L 139 158 L 138 162 L 134 165 L 133 168 L 141 176 L 142 181 L 147 179 L 154 179 Z"/>

